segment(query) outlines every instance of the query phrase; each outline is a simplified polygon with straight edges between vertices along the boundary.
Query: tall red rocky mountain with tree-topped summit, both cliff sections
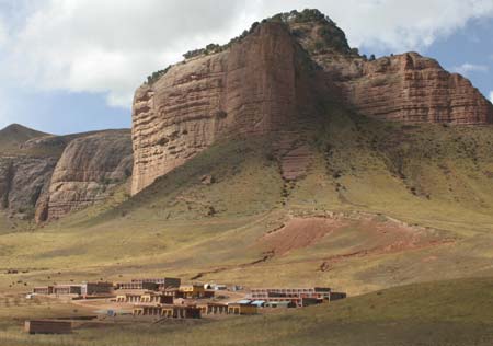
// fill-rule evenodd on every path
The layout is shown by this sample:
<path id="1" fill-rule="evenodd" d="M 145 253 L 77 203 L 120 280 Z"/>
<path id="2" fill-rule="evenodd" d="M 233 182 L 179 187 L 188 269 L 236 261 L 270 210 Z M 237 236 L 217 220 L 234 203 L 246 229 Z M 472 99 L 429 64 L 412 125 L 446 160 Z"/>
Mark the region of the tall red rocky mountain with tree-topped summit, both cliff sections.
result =
<path id="1" fill-rule="evenodd" d="M 219 138 L 293 130 L 323 116 L 326 102 L 386 120 L 493 123 L 493 105 L 466 78 L 416 53 L 360 56 L 317 10 L 275 15 L 185 57 L 135 94 L 133 194 Z"/>

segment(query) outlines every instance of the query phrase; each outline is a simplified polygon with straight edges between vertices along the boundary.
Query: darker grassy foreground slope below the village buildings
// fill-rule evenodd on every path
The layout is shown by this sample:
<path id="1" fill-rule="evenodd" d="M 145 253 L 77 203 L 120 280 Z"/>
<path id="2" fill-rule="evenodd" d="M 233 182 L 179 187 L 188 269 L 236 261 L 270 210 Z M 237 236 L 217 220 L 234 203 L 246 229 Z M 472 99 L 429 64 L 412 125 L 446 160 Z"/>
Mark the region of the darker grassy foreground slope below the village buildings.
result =
<path id="1" fill-rule="evenodd" d="M 2 345 L 491 345 L 493 279 L 460 279 L 392 288 L 302 310 L 195 323 L 79 330 L 70 336 L 28 336 L 3 324 Z M 11 303 L 11 305 L 14 305 Z M 46 302 L 0 305 L 14 319 L 69 308 Z M 80 311 L 79 313 L 83 313 Z"/>

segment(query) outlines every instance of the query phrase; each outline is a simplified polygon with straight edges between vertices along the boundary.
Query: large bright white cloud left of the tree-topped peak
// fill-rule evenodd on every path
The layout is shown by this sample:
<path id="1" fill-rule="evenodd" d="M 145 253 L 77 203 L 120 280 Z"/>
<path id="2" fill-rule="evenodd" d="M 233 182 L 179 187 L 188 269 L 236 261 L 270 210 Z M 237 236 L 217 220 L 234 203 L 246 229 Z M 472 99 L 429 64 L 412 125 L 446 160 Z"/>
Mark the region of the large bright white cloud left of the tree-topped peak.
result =
<path id="1" fill-rule="evenodd" d="M 237 2 L 51 0 L 11 37 L 7 64 L 26 86 L 107 93 L 129 106 L 153 70 L 243 28 Z"/>

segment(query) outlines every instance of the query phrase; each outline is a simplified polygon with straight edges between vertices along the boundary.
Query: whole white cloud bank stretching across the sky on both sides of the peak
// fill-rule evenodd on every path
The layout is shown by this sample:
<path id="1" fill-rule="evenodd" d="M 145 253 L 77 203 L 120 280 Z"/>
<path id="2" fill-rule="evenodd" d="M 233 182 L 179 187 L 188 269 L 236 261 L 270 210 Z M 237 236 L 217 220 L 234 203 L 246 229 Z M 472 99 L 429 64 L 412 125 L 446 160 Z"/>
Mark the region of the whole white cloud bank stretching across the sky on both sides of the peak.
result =
<path id="1" fill-rule="evenodd" d="M 3 39 L 3 74 L 25 88 L 107 93 L 108 104 L 126 107 L 152 71 L 276 12 L 318 8 L 353 46 L 395 51 L 429 46 L 471 19 L 493 16 L 491 0 L 26 1 L 27 13 Z"/>

